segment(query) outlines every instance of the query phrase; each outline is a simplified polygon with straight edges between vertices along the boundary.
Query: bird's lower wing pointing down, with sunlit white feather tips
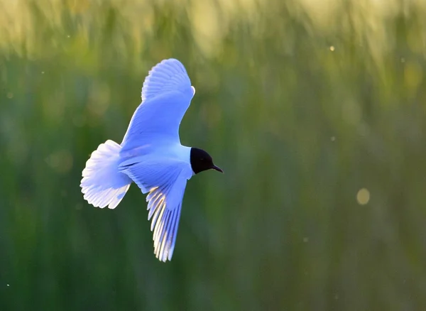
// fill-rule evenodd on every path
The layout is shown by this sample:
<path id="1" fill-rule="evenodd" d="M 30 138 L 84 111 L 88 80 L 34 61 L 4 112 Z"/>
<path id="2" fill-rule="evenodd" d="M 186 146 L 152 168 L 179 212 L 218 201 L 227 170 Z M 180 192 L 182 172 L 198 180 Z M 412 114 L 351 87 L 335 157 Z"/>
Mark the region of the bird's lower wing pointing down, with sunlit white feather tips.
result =
<path id="1" fill-rule="evenodd" d="M 120 165 L 143 193 L 148 193 L 148 220 L 152 218 L 154 253 L 160 261 L 171 260 L 187 180 L 192 176 L 188 163 L 178 160 L 150 159 L 133 163 L 124 161 Z"/>

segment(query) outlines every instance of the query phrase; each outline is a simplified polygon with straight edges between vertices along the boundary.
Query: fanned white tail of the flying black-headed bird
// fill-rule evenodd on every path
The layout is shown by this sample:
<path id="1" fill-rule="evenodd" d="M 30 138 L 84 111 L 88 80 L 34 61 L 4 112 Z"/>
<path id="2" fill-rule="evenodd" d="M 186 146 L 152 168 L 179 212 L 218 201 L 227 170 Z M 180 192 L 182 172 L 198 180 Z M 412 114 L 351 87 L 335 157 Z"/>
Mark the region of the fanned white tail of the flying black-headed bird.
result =
<path id="1" fill-rule="evenodd" d="M 131 179 L 119 172 L 121 146 L 114 141 L 101 143 L 87 160 L 82 172 L 82 193 L 94 207 L 114 209 L 129 190 Z"/>

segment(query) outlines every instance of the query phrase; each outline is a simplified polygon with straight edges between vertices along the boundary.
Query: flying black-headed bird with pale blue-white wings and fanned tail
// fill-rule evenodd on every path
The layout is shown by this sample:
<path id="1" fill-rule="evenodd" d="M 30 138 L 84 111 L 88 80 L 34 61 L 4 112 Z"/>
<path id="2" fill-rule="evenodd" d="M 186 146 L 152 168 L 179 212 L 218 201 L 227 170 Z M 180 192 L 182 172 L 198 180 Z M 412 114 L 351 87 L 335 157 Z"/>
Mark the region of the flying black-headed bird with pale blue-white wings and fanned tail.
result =
<path id="1" fill-rule="evenodd" d="M 195 88 L 179 60 L 155 65 L 145 78 L 142 102 L 133 113 L 121 144 L 101 143 L 87 160 L 80 187 L 94 207 L 114 209 L 135 182 L 148 202 L 154 253 L 171 260 L 187 180 L 214 165 L 206 151 L 182 146 L 180 121 Z"/>

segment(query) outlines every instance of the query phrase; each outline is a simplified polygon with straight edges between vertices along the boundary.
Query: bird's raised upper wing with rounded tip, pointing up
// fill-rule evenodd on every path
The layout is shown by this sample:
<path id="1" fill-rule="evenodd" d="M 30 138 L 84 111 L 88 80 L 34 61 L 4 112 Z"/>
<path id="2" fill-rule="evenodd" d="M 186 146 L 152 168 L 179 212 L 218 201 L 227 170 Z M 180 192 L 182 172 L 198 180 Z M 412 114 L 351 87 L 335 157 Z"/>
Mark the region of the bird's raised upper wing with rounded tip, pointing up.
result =
<path id="1" fill-rule="evenodd" d="M 185 67 L 173 58 L 155 65 L 143 82 L 142 103 L 134 112 L 121 153 L 164 140 L 179 142 L 179 126 L 195 94 Z"/>

